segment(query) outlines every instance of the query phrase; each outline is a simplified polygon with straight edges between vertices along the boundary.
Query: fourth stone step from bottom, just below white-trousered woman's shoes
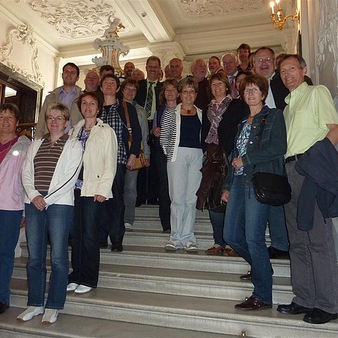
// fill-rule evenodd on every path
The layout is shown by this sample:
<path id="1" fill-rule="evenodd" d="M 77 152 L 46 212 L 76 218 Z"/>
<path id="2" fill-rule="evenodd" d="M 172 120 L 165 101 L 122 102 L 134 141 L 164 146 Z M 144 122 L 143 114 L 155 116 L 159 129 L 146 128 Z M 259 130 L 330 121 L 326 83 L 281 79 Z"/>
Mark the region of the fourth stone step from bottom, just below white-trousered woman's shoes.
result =
<path id="1" fill-rule="evenodd" d="M 21 244 L 23 257 L 28 257 L 27 244 Z M 101 249 L 101 264 L 165 268 L 173 270 L 204 271 L 208 273 L 247 273 L 249 265 L 241 257 L 207 256 L 204 251 L 187 253 L 180 249 L 173 252 L 151 246 L 124 246 L 121 253 Z M 47 257 L 50 251 L 47 251 Z M 69 249 L 70 257 L 70 249 Z M 289 261 L 272 259 L 275 277 L 290 277 Z"/>

